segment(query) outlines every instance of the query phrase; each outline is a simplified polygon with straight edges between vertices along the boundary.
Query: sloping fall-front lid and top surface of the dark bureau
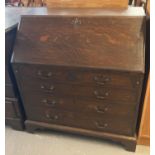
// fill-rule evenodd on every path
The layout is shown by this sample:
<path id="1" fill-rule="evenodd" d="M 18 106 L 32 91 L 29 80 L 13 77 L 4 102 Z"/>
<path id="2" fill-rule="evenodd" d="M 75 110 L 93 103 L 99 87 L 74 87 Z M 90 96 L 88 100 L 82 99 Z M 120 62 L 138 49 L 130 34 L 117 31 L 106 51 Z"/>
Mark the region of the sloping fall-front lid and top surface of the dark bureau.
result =
<path id="1" fill-rule="evenodd" d="M 136 9 L 23 16 L 12 62 L 144 72 L 144 12 Z"/>

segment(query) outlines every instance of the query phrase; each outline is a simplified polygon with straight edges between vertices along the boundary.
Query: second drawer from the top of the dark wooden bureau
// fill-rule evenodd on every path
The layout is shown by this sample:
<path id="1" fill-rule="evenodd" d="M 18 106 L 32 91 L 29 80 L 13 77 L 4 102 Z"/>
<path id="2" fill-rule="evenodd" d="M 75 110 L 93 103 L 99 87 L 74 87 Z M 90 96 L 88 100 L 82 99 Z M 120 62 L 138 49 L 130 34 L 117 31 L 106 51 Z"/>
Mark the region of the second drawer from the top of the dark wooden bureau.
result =
<path id="1" fill-rule="evenodd" d="M 104 86 L 87 87 L 46 82 L 37 83 L 35 81 L 22 81 L 22 90 L 24 93 L 27 93 L 29 91 L 37 91 L 40 93 L 50 94 L 58 97 L 81 97 L 102 101 L 116 101 L 120 103 L 133 102 L 132 104 L 134 104 L 137 101 L 137 96 L 135 95 L 134 91 L 109 88 Z"/>

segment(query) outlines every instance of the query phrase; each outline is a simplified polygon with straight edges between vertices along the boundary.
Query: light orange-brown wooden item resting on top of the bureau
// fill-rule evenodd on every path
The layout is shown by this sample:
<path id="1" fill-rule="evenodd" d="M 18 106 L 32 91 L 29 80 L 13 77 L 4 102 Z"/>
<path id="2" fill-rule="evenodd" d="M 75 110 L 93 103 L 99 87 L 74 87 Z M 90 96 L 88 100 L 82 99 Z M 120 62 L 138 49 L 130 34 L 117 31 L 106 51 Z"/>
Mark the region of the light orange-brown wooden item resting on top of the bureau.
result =
<path id="1" fill-rule="evenodd" d="M 128 0 L 46 0 L 48 8 L 114 8 L 126 9 Z"/>

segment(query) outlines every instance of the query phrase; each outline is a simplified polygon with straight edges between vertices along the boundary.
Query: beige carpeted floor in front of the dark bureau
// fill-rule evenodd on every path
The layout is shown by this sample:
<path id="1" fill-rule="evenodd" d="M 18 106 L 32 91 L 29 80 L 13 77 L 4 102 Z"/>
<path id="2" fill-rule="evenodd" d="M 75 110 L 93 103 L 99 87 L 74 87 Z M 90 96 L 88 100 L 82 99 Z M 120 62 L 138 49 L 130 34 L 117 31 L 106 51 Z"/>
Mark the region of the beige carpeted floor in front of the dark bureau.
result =
<path id="1" fill-rule="evenodd" d="M 6 155 L 149 155 L 146 146 L 136 153 L 127 152 L 115 143 L 59 132 L 30 134 L 6 127 Z"/>

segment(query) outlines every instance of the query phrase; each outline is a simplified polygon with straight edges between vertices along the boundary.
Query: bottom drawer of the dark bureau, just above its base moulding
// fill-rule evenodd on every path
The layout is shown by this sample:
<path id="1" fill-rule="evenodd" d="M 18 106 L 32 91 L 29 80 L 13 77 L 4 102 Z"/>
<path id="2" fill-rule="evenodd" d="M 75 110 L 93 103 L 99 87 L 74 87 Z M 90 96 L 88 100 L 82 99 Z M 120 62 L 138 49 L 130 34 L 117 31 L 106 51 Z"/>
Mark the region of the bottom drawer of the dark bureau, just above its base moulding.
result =
<path id="1" fill-rule="evenodd" d="M 27 119 L 50 124 L 58 124 L 99 132 L 111 132 L 132 135 L 133 120 L 125 117 L 87 117 L 87 114 L 77 114 L 49 108 L 27 108 Z"/>

